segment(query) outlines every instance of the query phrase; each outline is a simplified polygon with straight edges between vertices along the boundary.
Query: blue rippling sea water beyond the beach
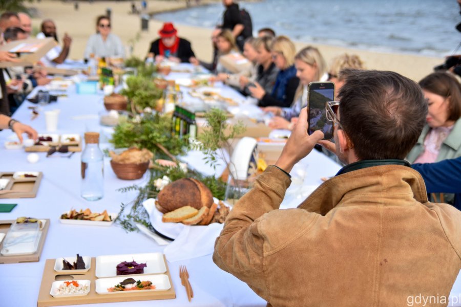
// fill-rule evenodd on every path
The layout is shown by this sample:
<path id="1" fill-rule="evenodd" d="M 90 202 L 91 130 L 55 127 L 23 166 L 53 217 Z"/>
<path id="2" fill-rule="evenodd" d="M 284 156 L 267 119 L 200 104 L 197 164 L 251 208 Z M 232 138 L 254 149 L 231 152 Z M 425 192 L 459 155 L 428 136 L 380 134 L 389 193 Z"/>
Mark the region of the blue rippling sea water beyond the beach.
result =
<path id="1" fill-rule="evenodd" d="M 455 29 L 461 22 L 456 0 L 265 0 L 239 5 L 252 16 L 255 36 L 258 29 L 270 27 L 277 35 L 307 43 L 425 56 L 449 55 L 461 41 Z M 213 28 L 223 11 L 218 3 L 154 18 Z"/>

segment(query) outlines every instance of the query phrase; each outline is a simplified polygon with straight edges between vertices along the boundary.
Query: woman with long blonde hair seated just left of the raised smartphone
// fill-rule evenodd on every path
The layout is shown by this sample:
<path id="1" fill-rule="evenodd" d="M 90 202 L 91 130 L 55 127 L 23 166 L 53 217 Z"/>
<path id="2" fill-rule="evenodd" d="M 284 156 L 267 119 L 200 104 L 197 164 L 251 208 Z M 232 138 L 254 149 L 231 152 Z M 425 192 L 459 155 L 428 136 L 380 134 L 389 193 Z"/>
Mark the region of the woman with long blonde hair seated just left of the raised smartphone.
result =
<path id="1" fill-rule="evenodd" d="M 306 47 L 295 56 L 296 76 L 299 78 L 299 86 L 290 107 L 268 106 L 265 112 L 276 115 L 271 119 L 269 127 L 273 129 L 291 130 L 297 121 L 299 112 L 307 104 L 307 85 L 313 81 L 326 80 L 326 63 L 319 50 L 314 47 Z M 291 119 L 293 119 L 291 121 Z"/>

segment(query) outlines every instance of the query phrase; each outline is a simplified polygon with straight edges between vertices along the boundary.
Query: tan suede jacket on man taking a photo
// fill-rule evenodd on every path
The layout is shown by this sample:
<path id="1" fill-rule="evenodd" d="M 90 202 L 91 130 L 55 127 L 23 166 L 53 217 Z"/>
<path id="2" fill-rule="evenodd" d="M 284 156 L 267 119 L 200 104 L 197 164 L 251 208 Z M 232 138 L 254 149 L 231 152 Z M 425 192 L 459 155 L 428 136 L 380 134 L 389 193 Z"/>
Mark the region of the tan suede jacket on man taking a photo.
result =
<path id="1" fill-rule="evenodd" d="M 289 185 L 269 166 L 215 243 L 218 267 L 268 306 L 407 306 L 418 295 L 448 303 L 461 268 L 461 211 L 428 203 L 419 173 L 354 170 L 298 208 L 277 210 Z"/>

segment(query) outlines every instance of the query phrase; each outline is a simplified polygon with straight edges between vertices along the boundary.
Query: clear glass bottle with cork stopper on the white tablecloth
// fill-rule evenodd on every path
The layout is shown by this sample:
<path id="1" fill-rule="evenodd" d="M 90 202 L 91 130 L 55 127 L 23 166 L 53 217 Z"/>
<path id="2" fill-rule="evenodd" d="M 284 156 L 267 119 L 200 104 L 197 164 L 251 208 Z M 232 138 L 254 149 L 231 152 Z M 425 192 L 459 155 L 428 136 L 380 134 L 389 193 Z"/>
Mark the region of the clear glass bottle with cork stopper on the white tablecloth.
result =
<path id="1" fill-rule="evenodd" d="M 103 155 L 99 149 L 99 133 L 85 133 L 85 149 L 81 153 L 80 195 L 87 201 L 97 201 L 104 195 Z"/>

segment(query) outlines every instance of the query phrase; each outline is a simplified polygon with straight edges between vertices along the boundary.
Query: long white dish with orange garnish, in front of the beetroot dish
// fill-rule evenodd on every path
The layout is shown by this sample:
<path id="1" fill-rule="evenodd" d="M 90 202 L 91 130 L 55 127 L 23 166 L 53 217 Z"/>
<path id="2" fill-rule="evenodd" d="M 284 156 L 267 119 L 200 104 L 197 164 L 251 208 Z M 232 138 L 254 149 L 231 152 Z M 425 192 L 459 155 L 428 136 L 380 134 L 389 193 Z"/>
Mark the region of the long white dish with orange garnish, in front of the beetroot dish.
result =
<path id="1" fill-rule="evenodd" d="M 116 292 L 109 292 L 107 289 L 111 287 L 115 287 L 116 284 L 122 282 L 123 280 L 130 278 L 128 275 L 123 275 L 119 277 L 112 277 L 112 278 L 99 278 L 96 279 L 96 293 L 98 294 L 123 294 L 123 293 L 133 293 L 136 291 L 166 291 L 171 288 L 170 279 L 168 275 L 158 274 L 158 275 L 141 275 L 131 277 L 133 279 L 141 280 L 141 281 L 151 281 L 152 284 L 155 286 L 153 290 L 132 290 L 132 291 L 116 291 Z"/>

